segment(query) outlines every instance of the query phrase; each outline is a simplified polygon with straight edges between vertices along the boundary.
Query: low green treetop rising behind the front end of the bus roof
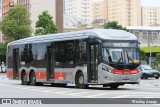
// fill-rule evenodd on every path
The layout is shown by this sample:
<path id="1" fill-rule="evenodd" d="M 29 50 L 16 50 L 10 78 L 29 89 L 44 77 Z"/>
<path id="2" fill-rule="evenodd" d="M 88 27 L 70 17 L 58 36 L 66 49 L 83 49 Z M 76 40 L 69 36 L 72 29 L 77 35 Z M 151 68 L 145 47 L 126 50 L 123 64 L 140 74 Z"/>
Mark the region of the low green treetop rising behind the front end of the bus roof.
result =
<path id="1" fill-rule="evenodd" d="M 129 30 L 126 27 L 123 27 L 122 25 L 119 25 L 118 22 L 112 21 L 104 24 L 105 29 L 120 29 L 120 30 L 125 30 L 129 32 Z"/>

